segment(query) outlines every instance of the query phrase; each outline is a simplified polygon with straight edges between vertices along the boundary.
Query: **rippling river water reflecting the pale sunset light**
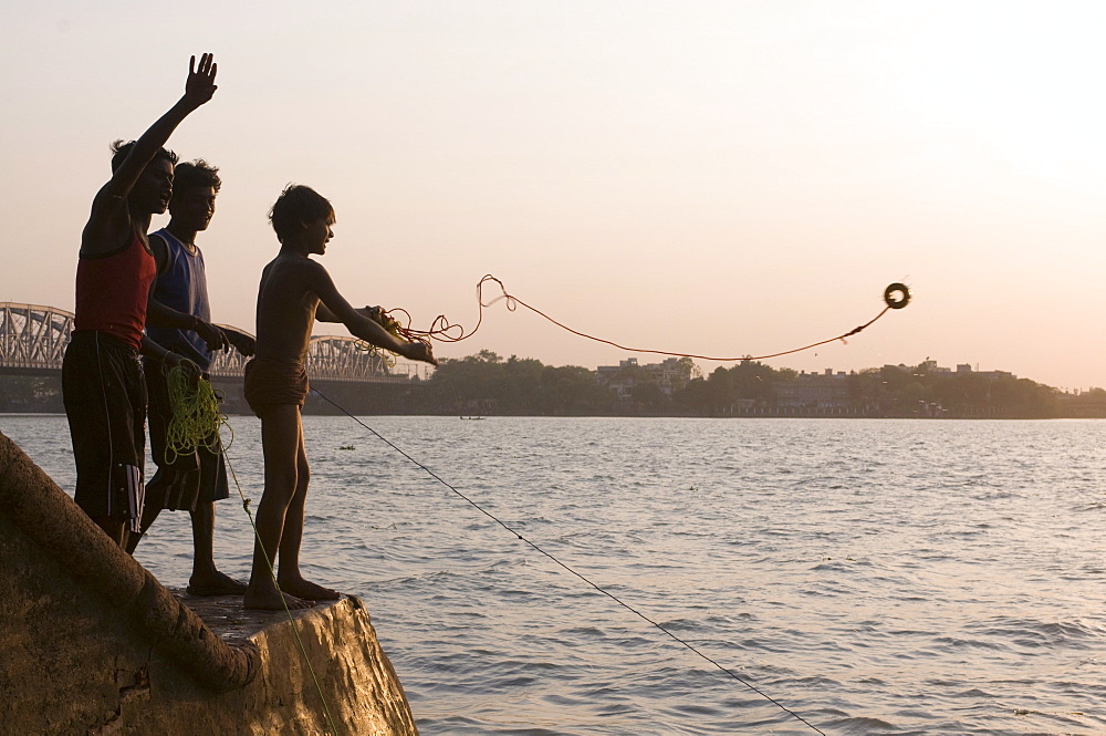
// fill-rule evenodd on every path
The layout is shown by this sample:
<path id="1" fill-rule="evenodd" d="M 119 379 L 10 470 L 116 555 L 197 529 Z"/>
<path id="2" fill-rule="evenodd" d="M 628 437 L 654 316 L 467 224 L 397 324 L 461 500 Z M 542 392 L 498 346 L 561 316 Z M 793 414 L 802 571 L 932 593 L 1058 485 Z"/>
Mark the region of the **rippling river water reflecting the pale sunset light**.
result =
<path id="1" fill-rule="evenodd" d="M 730 673 L 305 417 L 304 571 L 365 600 L 424 736 L 1106 734 L 1106 422 L 363 421 Z M 260 423 L 230 423 L 255 504 Z M 0 431 L 72 489 L 64 417 Z M 164 514 L 137 558 L 182 587 L 190 553 Z"/>

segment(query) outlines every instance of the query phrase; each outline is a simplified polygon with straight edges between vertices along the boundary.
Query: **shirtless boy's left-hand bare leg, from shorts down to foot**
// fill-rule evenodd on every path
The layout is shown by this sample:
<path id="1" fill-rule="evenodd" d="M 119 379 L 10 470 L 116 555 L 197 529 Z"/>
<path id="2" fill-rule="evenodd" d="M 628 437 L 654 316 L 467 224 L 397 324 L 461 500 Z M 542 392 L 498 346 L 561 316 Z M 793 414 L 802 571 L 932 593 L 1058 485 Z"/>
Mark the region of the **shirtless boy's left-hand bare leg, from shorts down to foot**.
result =
<path id="1" fill-rule="evenodd" d="M 295 496 L 300 443 L 300 407 L 295 404 L 268 406 L 261 415 L 261 446 L 265 458 L 265 490 L 254 515 L 258 528 L 253 546 L 253 571 L 242 605 L 248 609 L 281 610 L 307 608 L 312 601 L 283 595 L 273 582 L 276 552 L 281 547 L 284 519 Z M 282 560 L 283 561 L 283 560 Z"/>

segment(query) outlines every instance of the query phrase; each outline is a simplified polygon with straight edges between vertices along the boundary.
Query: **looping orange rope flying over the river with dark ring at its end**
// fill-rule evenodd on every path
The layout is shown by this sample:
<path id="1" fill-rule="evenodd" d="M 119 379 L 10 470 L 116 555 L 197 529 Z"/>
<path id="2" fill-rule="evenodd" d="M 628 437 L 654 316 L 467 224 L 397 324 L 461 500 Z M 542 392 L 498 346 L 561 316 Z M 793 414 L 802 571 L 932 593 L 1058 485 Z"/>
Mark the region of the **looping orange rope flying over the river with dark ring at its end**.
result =
<path id="1" fill-rule="evenodd" d="M 483 288 L 484 288 L 484 284 L 489 283 L 489 282 L 494 283 L 495 286 L 499 287 L 500 294 L 498 297 L 495 297 L 494 299 L 492 299 L 491 301 L 487 301 L 486 302 L 484 301 L 484 296 L 483 296 Z M 644 349 L 644 348 L 629 348 L 627 345 L 622 345 L 622 344 L 618 344 L 617 342 L 613 342 L 611 340 L 604 340 L 603 338 L 596 338 L 595 335 L 587 334 L 586 332 L 581 332 L 580 330 L 574 330 L 573 328 L 570 328 L 568 325 L 559 322 L 557 320 L 553 319 L 552 317 L 550 317 L 545 312 L 541 311 L 536 307 L 532 307 L 532 305 L 528 304 L 526 302 L 522 301 L 521 299 L 519 299 L 518 297 L 509 293 L 507 291 L 507 287 L 503 286 L 503 282 L 500 281 L 499 279 L 497 279 L 491 273 L 486 274 L 482 279 L 480 279 L 479 282 L 477 282 L 477 303 L 479 304 L 479 312 L 478 312 L 478 317 L 477 317 L 477 325 L 474 328 L 472 328 L 472 330 L 470 330 L 468 332 L 466 332 L 465 328 L 461 326 L 460 324 L 452 324 L 448 319 L 446 319 L 445 314 L 439 314 L 438 317 L 436 317 L 434 319 L 434 322 L 430 323 L 430 329 L 429 330 L 415 330 L 415 329 L 413 329 L 410 326 L 410 324 L 411 324 L 411 317 L 407 312 L 407 310 L 405 310 L 405 309 L 396 308 L 396 309 L 392 309 L 392 310 L 387 310 L 387 311 L 382 311 L 380 313 L 382 313 L 382 315 L 385 319 L 390 320 L 392 322 L 395 323 L 395 326 L 394 326 L 395 331 L 393 332 L 393 334 L 395 334 L 395 335 L 397 335 L 399 338 L 403 338 L 403 339 L 408 340 L 408 341 L 419 341 L 419 342 L 424 342 L 424 343 L 427 343 L 427 344 L 429 344 L 429 342 L 430 342 L 431 339 L 438 340 L 439 342 L 452 343 L 452 342 L 460 342 L 462 340 L 468 340 L 469 338 L 471 338 L 472 335 L 474 335 L 477 333 L 477 331 L 480 329 L 480 325 L 483 324 L 483 311 L 486 309 L 488 309 L 489 307 L 493 305 L 495 302 L 499 302 L 499 301 L 504 301 L 505 302 L 508 311 L 513 312 L 519 307 L 525 307 L 531 312 L 538 314 L 539 317 L 542 317 L 542 318 L 549 320 L 550 322 L 552 322 L 553 324 L 557 325 L 562 330 L 566 330 L 567 332 L 571 332 L 574 335 L 578 335 L 578 336 L 585 338 L 587 340 L 594 340 L 595 342 L 602 342 L 602 343 L 604 343 L 606 345 L 612 345 L 612 346 L 617 348 L 619 350 L 625 350 L 625 351 L 633 352 L 633 353 L 653 353 L 655 355 L 672 355 L 672 356 L 676 356 L 676 357 L 695 357 L 695 359 L 698 359 L 698 360 L 701 360 L 701 361 L 718 361 L 718 362 L 722 362 L 722 363 L 728 363 L 728 362 L 735 362 L 735 361 L 763 361 L 763 360 L 768 360 L 770 357 L 780 357 L 781 355 L 791 355 L 792 353 L 801 353 L 804 350 L 811 350 L 812 348 L 817 348 L 818 345 L 825 345 L 827 343 L 835 342 L 837 340 L 841 340 L 842 342 L 844 342 L 845 338 L 851 338 L 851 336 L 857 334 L 858 332 L 867 329 L 876 320 L 878 320 L 884 314 L 886 314 L 889 310 L 901 309 L 901 308 L 906 307 L 907 303 L 909 303 L 909 301 L 910 301 L 910 290 L 909 290 L 909 288 L 907 288 L 906 284 L 902 284 L 902 283 L 893 283 L 893 284 L 890 284 L 884 291 L 884 302 L 887 305 L 884 307 L 883 311 L 880 311 L 878 314 L 876 314 L 874 318 L 872 318 L 870 320 L 868 320 L 864 324 L 860 324 L 859 326 L 855 326 L 852 330 L 849 330 L 848 332 L 845 332 L 844 334 L 839 334 L 839 335 L 837 335 L 835 338 L 828 338 L 827 340 L 820 340 L 818 342 L 813 342 L 813 343 L 811 343 L 808 345 L 803 345 L 802 348 L 794 348 L 792 350 L 783 350 L 783 351 L 780 351 L 778 353 L 769 353 L 766 355 L 740 355 L 740 356 L 737 356 L 737 357 L 719 357 L 719 356 L 713 356 L 713 355 L 696 355 L 693 353 L 678 353 L 678 352 L 671 352 L 671 351 L 667 351 L 667 350 L 647 350 L 647 349 Z M 393 317 L 393 315 L 403 315 L 404 319 L 400 321 L 399 319 L 396 319 L 396 317 Z"/>

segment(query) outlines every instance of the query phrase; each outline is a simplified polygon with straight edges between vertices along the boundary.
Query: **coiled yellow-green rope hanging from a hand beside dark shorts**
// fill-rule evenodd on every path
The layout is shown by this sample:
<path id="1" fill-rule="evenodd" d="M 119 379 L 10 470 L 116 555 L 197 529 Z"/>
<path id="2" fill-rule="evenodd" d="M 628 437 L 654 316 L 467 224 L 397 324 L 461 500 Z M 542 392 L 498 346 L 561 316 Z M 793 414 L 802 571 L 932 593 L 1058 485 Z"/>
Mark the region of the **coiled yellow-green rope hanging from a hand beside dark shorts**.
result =
<path id="1" fill-rule="evenodd" d="M 169 406 L 173 407 L 173 418 L 165 433 L 166 459 L 174 463 L 199 447 L 216 455 L 229 447 L 234 440 L 234 431 L 227 424 L 227 415 L 219 411 L 221 400 L 211 382 L 195 380 L 177 365 L 166 373 L 166 383 L 169 386 Z M 223 425 L 230 429 L 230 442 L 220 446 L 219 428 Z"/>

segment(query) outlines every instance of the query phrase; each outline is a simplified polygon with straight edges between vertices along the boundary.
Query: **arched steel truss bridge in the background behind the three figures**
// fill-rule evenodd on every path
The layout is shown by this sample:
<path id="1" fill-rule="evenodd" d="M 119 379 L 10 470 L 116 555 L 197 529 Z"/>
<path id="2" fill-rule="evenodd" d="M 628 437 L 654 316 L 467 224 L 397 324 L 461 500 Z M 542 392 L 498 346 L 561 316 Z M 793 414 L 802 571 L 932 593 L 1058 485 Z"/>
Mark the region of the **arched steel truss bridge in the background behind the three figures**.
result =
<path id="1" fill-rule="evenodd" d="M 72 332 L 72 312 L 38 304 L 0 302 L 0 374 L 60 374 Z M 357 383 L 407 382 L 428 375 L 421 365 L 388 367 L 378 355 L 361 350 L 358 344 L 361 341 L 356 338 L 312 338 L 307 374 L 316 381 Z M 240 377 L 247 360 L 238 351 L 217 353 L 211 375 Z"/>

